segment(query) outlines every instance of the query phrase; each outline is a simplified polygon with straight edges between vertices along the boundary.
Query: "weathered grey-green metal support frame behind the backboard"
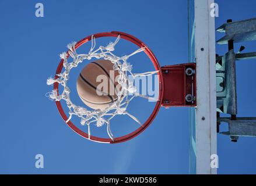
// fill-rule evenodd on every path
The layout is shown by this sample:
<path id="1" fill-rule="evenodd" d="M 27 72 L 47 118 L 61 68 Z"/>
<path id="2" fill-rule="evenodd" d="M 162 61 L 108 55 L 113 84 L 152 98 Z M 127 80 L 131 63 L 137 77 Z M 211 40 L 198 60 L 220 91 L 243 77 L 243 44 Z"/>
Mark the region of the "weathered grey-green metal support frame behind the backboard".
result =
<path id="1" fill-rule="evenodd" d="M 218 44 L 228 44 L 229 51 L 223 56 L 216 58 L 217 70 L 217 132 L 230 136 L 230 140 L 237 142 L 240 136 L 256 137 L 256 118 L 237 117 L 237 83 L 236 83 L 236 60 L 256 59 L 256 52 L 241 53 L 246 47 L 241 46 L 239 52 L 234 52 L 234 43 L 256 40 L 256 19 L 233 22 L 227 20 L 216 29 L 225 33 L 225 37 L 218 40 Z M 219 113 L 226 113 L 230 117 L 220 117 Z M 220 122 L 229 124 L 229 131 L 220 132 Z"/>

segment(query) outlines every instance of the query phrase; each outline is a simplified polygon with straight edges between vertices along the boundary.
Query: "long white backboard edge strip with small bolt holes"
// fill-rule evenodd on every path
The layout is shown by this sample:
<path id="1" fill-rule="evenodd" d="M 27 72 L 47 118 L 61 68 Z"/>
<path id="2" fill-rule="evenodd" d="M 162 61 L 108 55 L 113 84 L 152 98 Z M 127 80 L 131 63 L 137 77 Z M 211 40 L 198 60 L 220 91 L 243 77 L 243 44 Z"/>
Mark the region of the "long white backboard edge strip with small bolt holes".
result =
<path id="1" fill-rule="evenodd" d="M 197 174 L 217 173 L 216 169 L 211 169 L 211 155 L 217 153 L 215 17 L 210 15 L 211 3 L 214 3 L 214 0 L 195 0 Z"/>

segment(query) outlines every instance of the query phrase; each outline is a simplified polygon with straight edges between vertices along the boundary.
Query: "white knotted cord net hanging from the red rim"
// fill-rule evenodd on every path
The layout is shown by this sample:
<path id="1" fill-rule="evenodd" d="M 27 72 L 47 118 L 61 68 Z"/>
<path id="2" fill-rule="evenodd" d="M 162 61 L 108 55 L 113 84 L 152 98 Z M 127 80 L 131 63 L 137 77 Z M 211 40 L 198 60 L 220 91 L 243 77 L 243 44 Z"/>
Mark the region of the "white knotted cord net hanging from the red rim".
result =
<path id="1" fill-rule="evenodd" d="M 135 55 L 136 53 L 142 52 L 145 48 L 140 48 L 129 55 L 121 57 L 116 56 L 114 55 L 113 51 L 115 45 L 118 43 L 119 40 L 120 35 L 118 35 L 117 39 L 114 42 L 110 42 L 110 44 L 108 44 L 106 47 L 100 46 L 99 48 L 95 49 L 96 41 L 92 35 L 92 46 L 90 48 L 90 51 L 86 54 L 76 53 L 76 42 L 68 44 L 68 53 L 69 56 L 71 56 L 71 58 L 73 59 L 72 62 L 68 62 L 66 52 L 61 53 L 60 57 L 64 60 L 63 67 L 65 70 L 62 73 L 57 74 L 58 78 L 50 77 L 47 79 L 48 85 L 58 83 L 59 85 L 62 85 L 64 87 L 64 90 L 61 94 L 58 94 L 57 90 L 52 90 L 51 92 L 47 93 L 47 96 L 52 101 L 64 100 L 66 102 L 66 106 L 69 109 L 69 117 L 68 120 L 66 120 L 66 123 L 71 120 L 72 116 L 74 115 L 80 117 L 80 124 L 82 126 L 87 126 L 89 139 L 91 135 L 91 124 L 96 124 L 97 127 L 101 127 L 106 124 L 107 134 L 111 138 L 111 140 L 114 140 L 114 135 L 111 133 L 110 130 L 110 120 L 113 119 L 113 117 L 115 117 L 116 115 L 128 115 L 138 124 L 142 125 L 135 116 L 127 112 L 129 102 L 131 102 L 132 99 L 134 99 L 136 96 L 141 96 L 142 98 L 157 101 L 155 100 L 155 98 L 137 93 L 136 87 L 134 86 L 134 80 L 138 76 L 150 76 L 157 73 L 158 71 L 149 71 L 146 73 L 132 73 L 132 65 L 128 62 L 129 57 Z M 67 85 L 69 80 L 69 72 L 71 71 L 71 69 L 73 69 L 73 67 L 77 67 L 79 63 L 82 63 L 84 60 L 91 60 L 93 58 L 110 60 L 114 64 L 113 70 L 118 70 L 118 73 L 120 74 L 118 77 L 118 84 L 121 85 L 121 90 L 117 93 L 117 101 L 110 103 L 108 108 L 104 110 L 88 110 L 86 108 L 83 108 L 82 106 L 77 106 L 71 101 L 69 96 L 71 93 Z M 128 78 L 128 75 L 131 75 L 132 79 Z"/>

